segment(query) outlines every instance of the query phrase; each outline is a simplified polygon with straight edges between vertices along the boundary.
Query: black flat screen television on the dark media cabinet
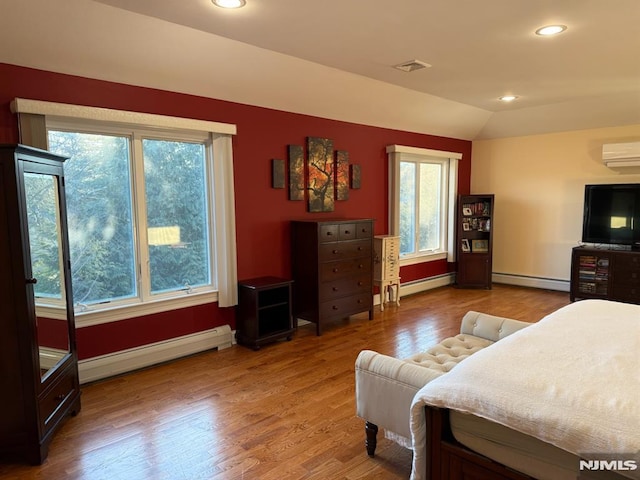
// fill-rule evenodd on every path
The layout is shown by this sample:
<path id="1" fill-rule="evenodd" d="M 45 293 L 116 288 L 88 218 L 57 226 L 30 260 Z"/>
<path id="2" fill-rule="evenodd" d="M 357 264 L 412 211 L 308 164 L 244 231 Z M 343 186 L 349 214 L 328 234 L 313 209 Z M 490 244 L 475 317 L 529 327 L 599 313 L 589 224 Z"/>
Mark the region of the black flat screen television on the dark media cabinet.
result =
<path id="1" fill-rule="evenodd" d="M 640 249 L 640 183 L 585 185 L 582 241 Z"/>

